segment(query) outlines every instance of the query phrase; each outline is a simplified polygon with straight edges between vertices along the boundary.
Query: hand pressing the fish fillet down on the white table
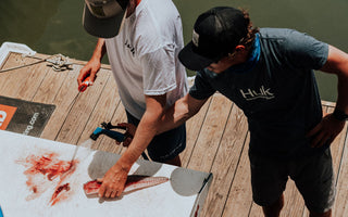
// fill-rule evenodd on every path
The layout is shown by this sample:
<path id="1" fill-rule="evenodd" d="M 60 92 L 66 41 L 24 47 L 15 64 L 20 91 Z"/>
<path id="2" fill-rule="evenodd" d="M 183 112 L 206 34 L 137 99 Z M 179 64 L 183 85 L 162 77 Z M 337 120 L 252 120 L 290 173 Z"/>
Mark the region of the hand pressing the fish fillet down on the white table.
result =
<path id="1" fill-rule="evenodd" d="M 120 196 L 127 181 L 128 169 L 122 168 L 117 163 L 113 165 L 104 175 L 99 189 L 99 197 L 113 199 Z"/>

